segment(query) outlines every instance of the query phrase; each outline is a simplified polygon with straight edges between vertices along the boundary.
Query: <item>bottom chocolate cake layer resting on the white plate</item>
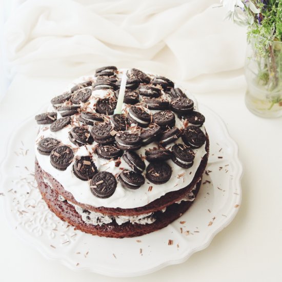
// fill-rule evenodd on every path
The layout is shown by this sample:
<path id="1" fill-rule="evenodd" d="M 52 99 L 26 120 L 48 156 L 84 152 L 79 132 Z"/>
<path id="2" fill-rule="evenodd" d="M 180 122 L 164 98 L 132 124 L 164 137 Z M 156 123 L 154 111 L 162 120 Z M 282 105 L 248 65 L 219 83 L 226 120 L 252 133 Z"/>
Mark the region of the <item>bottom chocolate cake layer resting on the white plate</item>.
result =
<path id="1" fill-rule="evenodd" d="M 88 225 L 76 212 L 74 206 L 70 205 L 66 200 L 63 202 L 59 200 L 59 194 L 56 192 L 56 190 L 52 189 L 47 183 L 44 182 L 42 173 L 38 173 L 37 171 L 35 177 L 38 183 L 38 189 L 41 192 L 42 197 L 47 203 L 49 209 L 59 218 L 74 226 L 75 229 L 81 230 L 85 233 L 90 233 L 92 235 L 124 238 L 151 233 L 168 226 L 170 223 L 172 223 L 172 221 L 185 213 L 193 204 L 193 202 L 183 201 L 180 204 L 172 204 L 168 206 L 165 212 L 157 211 L 154 213 L 156 220 L 152 224 L 143 225 L 127 222 L 122 225 L 118 225 L 115 223 L 115 221 L 113 221 L 110 224 Z M 202 180 L 202 178 L 200 178 L 200 180 Z M 195 197 L 199 191 L 200 183 L 201 181 L 197 183 L 196 189 L 193 191 Z"/>

